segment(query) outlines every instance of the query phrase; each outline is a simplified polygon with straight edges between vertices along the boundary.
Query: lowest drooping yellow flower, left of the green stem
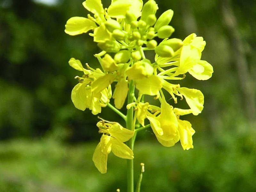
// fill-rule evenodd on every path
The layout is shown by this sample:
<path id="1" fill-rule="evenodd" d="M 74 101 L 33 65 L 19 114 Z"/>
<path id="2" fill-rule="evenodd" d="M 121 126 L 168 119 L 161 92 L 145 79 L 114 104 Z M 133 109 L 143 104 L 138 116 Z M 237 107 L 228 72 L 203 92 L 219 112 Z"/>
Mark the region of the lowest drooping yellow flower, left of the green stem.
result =
<path id="1" fill-rule="evenodd" d="M 99 133 L 103 134 L 93 153 L 92 160 L 101 173 L 107 172 L 107 159 L 111 151 L 120 158 L 134 158 L 132 150 L 124 144 L 125 141 L 133 137 L 133 131 L 125 129 L 120 124 L 99 122 L 97 126 Z"/>

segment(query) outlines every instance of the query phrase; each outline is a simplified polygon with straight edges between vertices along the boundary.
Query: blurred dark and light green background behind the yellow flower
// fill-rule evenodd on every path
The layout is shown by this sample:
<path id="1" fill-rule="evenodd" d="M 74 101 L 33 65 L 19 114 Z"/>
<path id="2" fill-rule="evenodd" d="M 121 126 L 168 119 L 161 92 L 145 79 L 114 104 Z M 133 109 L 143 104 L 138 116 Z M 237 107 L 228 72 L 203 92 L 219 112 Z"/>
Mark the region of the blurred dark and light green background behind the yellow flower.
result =
<path id="1" fill-rule="evenodd" d="M 100 50 L 88 34 L 64 33 L 70 17 L 88 14 L 82 2 L 0 0 L 1 192 L 126 191 L 126 160 L 110 154 L 108 172 L 97 171 L 97 116 L 70 99 L 80 74 L 68 60 L 99 66 L 93 54 Z M 165 148 L 150 129 L 139 132 L 134 163 L 135 178 L 145 163 L 141 191 L 256 191 L 255 1 L 156 2 L 157 16 L 174 11 L 173 37 L 204 37 L 202 59 L 214 73 L 208 81 L 188 75 L 179 82 L 205 96 L 202 114 L 185 117 L 196 130 L 194 149 Z M 122 122 L 108 108 L 100 117 Z"/>

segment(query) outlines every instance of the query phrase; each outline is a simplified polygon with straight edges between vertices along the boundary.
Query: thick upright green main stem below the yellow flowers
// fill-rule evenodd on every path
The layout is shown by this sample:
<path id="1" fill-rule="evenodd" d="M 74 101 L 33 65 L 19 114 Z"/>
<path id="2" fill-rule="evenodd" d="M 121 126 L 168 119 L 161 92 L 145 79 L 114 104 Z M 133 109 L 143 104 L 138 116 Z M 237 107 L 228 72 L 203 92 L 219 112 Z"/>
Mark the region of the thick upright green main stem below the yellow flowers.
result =
<path id="1" fill-rule="evenodd" d="M 129 92 L 128 92 L 128 100 L 127 103 L 133 102 L 133 94 L 134 94 L 134 85 L 131 81 L 129 84 Z M 133 130 L 132 127 L 132 120 L 133 120 L 133 107 L 127 109 L 127 116 L 126 116 L 126 129 Z M 127 146 L 132 149 L 133 151 L 133 138 L 127 141 Z M 133 159 L 127 160 L 127 192 L 134 191 L 134 184 L 133 184 Z"/>

